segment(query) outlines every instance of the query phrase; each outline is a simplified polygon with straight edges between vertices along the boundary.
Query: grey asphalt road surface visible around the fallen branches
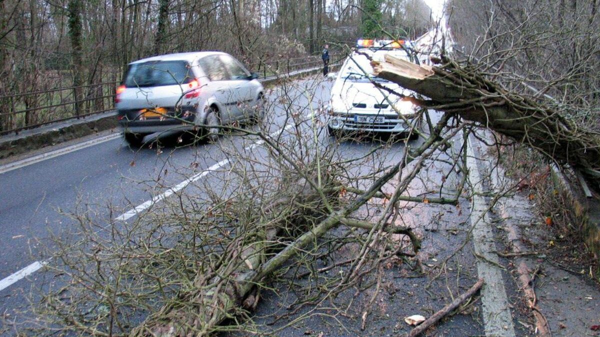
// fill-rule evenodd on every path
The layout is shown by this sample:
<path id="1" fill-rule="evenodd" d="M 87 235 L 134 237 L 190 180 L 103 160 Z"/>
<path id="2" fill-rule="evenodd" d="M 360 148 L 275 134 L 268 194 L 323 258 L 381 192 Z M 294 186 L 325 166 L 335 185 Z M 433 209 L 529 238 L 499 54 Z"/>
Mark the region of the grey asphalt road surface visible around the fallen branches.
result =
<path id="1" fill-rule="evenodd" d="M 323 79 L 308 79 L 292 82 L 272 90 L 268 94 L 274 109 L 268 116 L 268 133 L 281 133 L 283 137 L 292 137 L 293 132 L 308 132 L 310 128 L 297 128 L 293 125 L 293 116 L 311 119 L 319 113 L 320 107 L 329 100 L 332 82 Z M 435 116 L 435 114 L 433 114 Z M 434 121 L 435 122 L 435 121 Z M 309 123 L 310 124 L 310 123 Z M 257 127 L 252 127 L 257 130 Z M 176 137 L 162 137 L 166 140 L 160 149 L 130 149 L 121 138 L 99 142 L 87 148 L 67 152 L 58 157 L 29 164 L 19 169 L 0 173 L 0 280 L 11 278 L 23 268 L 41 266 L 47 261 L 44 251 L 55 248 L 51 237 L 61 238 L 77 230 L 77 222 L 68 213 L 86 213 L 98 224 L 119 226 L 128 219 L 137 216 L 137 212 L 146 212 L 157 198 L 168 197 L 173 191 L 194 192 L 190 177 L 198 183 L 209 180 L 208 171 L 226 169 L 232 163 L 228 152 L 244 151 L 256 146 L 256 137 L 242 137 L 235 134 L 222 136 L 217 144 L 179 146 Z M 401 160 L 404 154 L 403 143 L 377 141 L 343 142 L 337 144 L 325 133 L 320 133 L 322 146 L 335 146 L 335 155 L 339 160 L 365 157 L 360 165 L 350 168 L 347 174 L 361 176 L 368 174 L 371 167 L 385 167 Z M 333 142 L 333 143 L 332 143 Z M 410 142 L 416 146 L 422 140 Z M 374 148 L 378 148 L 373 152 Z M 257 153 L 260 151 L 257 151 Z M 372 153 L 373 152 L 373 153 Z M 443 166 L 443 165 L 442 165 Z M 409 188 L 411 195 L 423 195 L 426 185 L 442 180 L 447 167 L 432 165 L 424 170 L 424 178 L 415 180 Z M 459 179 L 450 175 L 450 180 Z M 369 179 L 365 179 L 368 184 Z M 209 182 L 207 182 L 209 183 Z M 220 188 L 216 186 L 215 188 Z M 438 191 L 440 192 L 440 191 Z M 453 207 L 453 206 L 452 206 Z M 419 210 L 415 217 L 407 219 L 413 227 L 423 228 L 436 222 L 436 212 L 452 212 L 450 209 Z M 466 209 L 469 204 L 464 204 Z M 132 209 L 137 209 L 133 211 Z M 466 217 L 463 215 L 463 218 Z M 457 217 L 448 219 L 448 223 Z M 454 222 L 453 222 L 454 221 Z M 457 238 L 437 236 L 437 227 L 427 235 L 426 240 L 437 242 L 435 254 L 444 254 L 445 246 L 456 245 Z M 437 251 L 442 252 L 437 252 Z M 427 251 L 427 248 L 424 249 Z M 433 253 L 431 253 L 433 254 Z M 37 264 L 36 264 L 37 263 Z M 52 261 L 49 261 L 52 263 Z M 463 261 L 464 265 L 474 266 L 472 260 Z M 26 270 L 31 272 L 32 269 Z M 52 273 L 44 269 L 31 272 L 26 278 L 17 275 L 19 281 L 0 281 L 0 312 L 4 322 L 17 323 L 28 310 L 28 299 L 34 293 L 43 290 L 47 282 L 52 282 Z M 406 282 L 416 280 L 405 279 Z M 400 281 L 398 281 L 400 282 Z M 424 281 L 423 281 L 424 282 Z M 410 287 L 412 284 L 398 284 L 398 287 Z M 459 285 L 457 284 L 457 287 Z M 34 296 L 34 300 L 36 297 Z M 273 297 L 275 299 L 275 297 Z M 444 297 L 436 299 L 445 302 Z M 419 303 L 418 301 L 416 303 Z M 432 306 L 434 302 L 427 302 Z M 422 303 L 422 305 L 424 305 Z M 401 308 L 402 306 L 398 306 Z M 271 308 L 266 305 L 263 307 Z M 397 313 L 400 315 L 400 313 Z M 402 313 L 403 314 L 403 313 Z M 2 324 L 2 321 L 0 321 Z M 382 326 L 388 323 L 382 321 Z M 469 327 L 469 333 L 482 333 L 482 327 L 470 319 L 459 319 L 458 326 Z M 450 330 L 453 327 L 449 327 Z M 465 331 L 465 330 L 463 330 Z M 3 332 L 0 326 L 0 334 Z M 11 335 L 15 330 L 5 330 Z"/>

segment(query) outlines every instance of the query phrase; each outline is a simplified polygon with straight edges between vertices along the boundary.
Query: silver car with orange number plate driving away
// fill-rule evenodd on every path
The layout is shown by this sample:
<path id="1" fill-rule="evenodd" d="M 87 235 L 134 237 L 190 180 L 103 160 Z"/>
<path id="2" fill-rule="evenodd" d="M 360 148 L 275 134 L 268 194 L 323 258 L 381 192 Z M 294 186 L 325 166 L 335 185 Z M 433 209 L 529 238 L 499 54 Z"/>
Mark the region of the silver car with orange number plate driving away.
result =
<path id="1" fill-rule="evenodd" d="M 222 125 L 260 120 L 264 88 L 257 77 L 221 52 L 131 62 L 115 96 L 125 140 L 140 146 L 151 133 L 193 130 L 214 141 Z"/>

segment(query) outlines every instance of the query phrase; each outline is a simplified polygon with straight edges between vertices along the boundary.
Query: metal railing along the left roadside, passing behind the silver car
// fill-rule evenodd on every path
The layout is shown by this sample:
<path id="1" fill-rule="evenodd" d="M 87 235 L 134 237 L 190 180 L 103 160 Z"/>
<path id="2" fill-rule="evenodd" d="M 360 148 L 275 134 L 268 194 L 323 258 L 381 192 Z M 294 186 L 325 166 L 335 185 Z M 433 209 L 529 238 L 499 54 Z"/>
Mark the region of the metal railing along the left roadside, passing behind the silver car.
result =
<path id="1" fill-rule="evenodd" d="M 254 62 L 248 68 L 260 78 L 266 78 L 322 64 L 319 56 L 304 56 Z M 0 96 L 0 104 L 4 108 L 0 110 L 0 136 L 114 110 L 118 83 L 103 82 Z"/>

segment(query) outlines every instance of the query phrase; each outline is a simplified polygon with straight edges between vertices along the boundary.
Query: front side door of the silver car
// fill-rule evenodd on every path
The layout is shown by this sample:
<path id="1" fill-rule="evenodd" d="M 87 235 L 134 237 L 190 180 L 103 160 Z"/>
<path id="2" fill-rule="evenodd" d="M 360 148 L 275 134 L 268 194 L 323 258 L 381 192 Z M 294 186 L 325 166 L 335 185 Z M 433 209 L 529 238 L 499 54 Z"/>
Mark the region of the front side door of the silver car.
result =
<path id="1" fill-rule="evenodd" d="M 247 119 L 251 116 L 251 106 L 254 103 L 254 95 L 250 85 L 250 72 L 245 70 L 238 60 L 231 55 L 223 54 L 219 57 L 231 76 L 229 81 L 233 91 L 232 95 L 237 101 L 236 118 Z"/>

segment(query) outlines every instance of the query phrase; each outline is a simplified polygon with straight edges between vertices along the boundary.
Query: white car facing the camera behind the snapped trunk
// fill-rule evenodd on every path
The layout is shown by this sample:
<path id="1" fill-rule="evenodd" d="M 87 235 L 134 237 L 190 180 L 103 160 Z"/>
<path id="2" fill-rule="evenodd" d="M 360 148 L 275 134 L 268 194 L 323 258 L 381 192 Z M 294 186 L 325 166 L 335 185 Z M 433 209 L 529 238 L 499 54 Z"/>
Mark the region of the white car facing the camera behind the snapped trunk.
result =
<path id="1" fill-rule="evenodd" d="M 398 94 L 412 94 L 395 83 L 372 75 L 371 61 L 365 54 L 380 61 L 387 53 L 409 60 L 403 49 L 363 48 L 344 61 L 331 89 L 329 135 L 336 136 L 341 131 L 406 133 L 418 127 L 417 121 L 412 120 L 418 107 L 374 85 L 377 83 Z"/>

